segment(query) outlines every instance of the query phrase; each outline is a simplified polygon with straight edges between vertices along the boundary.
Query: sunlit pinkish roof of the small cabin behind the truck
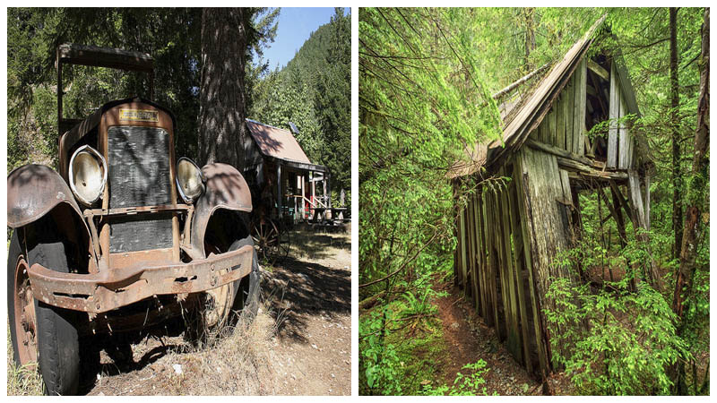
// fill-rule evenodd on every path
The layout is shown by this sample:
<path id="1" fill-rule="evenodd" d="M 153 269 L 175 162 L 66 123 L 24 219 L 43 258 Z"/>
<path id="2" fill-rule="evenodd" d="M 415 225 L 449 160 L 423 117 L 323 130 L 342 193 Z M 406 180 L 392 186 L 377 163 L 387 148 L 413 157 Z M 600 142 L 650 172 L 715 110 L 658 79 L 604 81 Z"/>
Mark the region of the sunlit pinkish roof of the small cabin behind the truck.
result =
<path id="1" fill-rule="evenodd" d="M 246 127 L 264 156 L 311 164 L 294 134 L 288 130 L 252 119 L 246 119 Z"/>

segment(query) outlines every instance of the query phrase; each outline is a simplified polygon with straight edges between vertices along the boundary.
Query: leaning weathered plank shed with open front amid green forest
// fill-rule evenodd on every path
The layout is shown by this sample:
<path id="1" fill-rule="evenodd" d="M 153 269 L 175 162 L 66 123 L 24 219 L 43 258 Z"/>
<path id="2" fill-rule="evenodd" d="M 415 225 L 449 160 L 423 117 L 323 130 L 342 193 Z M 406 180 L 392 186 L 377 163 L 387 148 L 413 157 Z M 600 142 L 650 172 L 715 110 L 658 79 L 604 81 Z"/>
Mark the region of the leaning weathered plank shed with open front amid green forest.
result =
<path id="1" fill-rule="evenodd" d="M 549 282 L 581 281 L 573 270 L 552 264 L 580 236 L 578 193 L 598 192 L 607 201 L 609 189 L 618 227 L 625 227 L 623 210 L 635 228 L 650 227 L 646 145 L 629 122 L 618 120 L 640 112 L 624 64 L 600 50 L 596 38 L 609 35 L 601 24 L 602 19 L 547 73 L 509 87 L 516 93 L 500 105 L 502 143 L 466 150 L 468 162 L 456 163 L 450 174 L 455 186 L 467 179 L 510 178 L 501 186 L 484 181 L 467 203 L 456 200 L 455 276 L 514 358 L 543 375 L 551 369 L 542 311 L 553 306 L 546 297 Z M 606 138 L 591 139 L 588 131 L 606 120 Z"/>

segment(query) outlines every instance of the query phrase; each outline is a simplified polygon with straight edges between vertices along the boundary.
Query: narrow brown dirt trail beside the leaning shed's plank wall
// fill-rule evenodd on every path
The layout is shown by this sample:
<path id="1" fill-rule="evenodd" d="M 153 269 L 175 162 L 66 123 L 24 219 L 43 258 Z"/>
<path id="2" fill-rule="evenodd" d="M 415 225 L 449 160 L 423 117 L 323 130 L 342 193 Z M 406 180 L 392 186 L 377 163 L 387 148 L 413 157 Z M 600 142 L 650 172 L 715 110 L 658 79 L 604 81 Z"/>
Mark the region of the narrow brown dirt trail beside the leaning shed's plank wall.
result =
<path id="1" fill-rule="evenodd" d="M 445 384 L 452 385 L 456 373 L 465 364 L 483 359 L 490 370 L 486 374 L 488 393 L 499 395 L 540 394 L 540 382 L 534 380 L 498 342 L 496 332 L 489 328 L 471 306 L 471 300 L 453 284 L 440 285 L 448 296 L 438 298 L 438 316 L 450 359 L 442 368 Z"/>

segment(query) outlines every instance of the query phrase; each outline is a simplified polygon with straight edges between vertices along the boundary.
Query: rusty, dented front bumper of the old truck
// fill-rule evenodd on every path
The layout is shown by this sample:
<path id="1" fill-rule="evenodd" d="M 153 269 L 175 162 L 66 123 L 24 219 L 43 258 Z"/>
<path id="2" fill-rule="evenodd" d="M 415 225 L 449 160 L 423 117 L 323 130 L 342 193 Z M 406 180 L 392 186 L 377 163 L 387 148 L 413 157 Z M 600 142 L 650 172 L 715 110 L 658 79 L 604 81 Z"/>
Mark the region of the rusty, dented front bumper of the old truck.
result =
<path id="1" fill-rule="evenodd" d="M 254 246 L 210 254 L 189 263 L 138 265 L 95 274 L 61 273 L 38 263 L 28 276 L 39 301 L 88 313 L 104 313 L 155 295 L 189 294 L 223 286 L 252 270 Z"/>

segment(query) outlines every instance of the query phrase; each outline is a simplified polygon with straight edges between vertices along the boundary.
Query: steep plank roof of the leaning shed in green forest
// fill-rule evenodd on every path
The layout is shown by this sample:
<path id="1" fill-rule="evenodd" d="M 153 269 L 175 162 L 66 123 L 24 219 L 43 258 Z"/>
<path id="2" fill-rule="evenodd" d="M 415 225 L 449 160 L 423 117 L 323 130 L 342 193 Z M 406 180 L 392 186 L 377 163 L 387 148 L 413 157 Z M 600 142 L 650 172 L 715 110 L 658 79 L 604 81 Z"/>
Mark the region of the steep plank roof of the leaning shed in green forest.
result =
<path id="1" fill-rule="evenodd" d="M 594 33 L 605 21 L 603 15 L 592 27 L 574 43 L 566 52 L 566 55 L 552 66 L 549 73 L 542 75 L 540 80 L 525 81 L 516 87 L 521 89 L 517 94 L 506 99 L 498 107 L 500 117 L 503 121 L 502 141 L 485 141 L 476 144 L 474 147 L 466 147 L 467 159 L 457 161 L 448 172 L 448 177 L 471 175 L 477 172 L 480 167 L 500 158 L 505 152 L 513 152 L 519 149 L 533 129 L 540 125 L 543 117 L 547 115 L 557 95 L 565 87 L 567 81 L 573 75 L 577 65 L 587 54 L 588 48 L 595 40 Z M 635 92 L 629 80 L 629 75 L 622 60 L 616 63 L 616 72 L 623 93 L 626 97 L 626 105 L 630 113 L 639 116 L 640 112 L 635 102 Z"/>

